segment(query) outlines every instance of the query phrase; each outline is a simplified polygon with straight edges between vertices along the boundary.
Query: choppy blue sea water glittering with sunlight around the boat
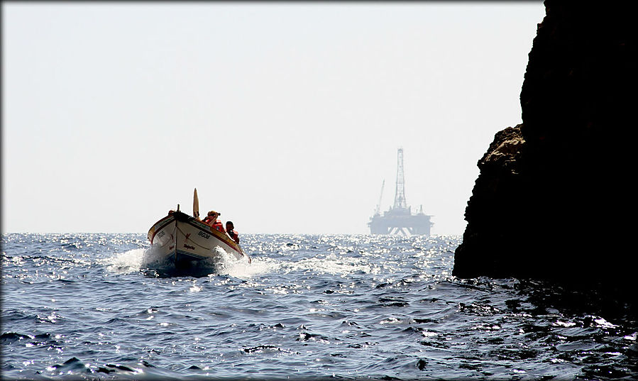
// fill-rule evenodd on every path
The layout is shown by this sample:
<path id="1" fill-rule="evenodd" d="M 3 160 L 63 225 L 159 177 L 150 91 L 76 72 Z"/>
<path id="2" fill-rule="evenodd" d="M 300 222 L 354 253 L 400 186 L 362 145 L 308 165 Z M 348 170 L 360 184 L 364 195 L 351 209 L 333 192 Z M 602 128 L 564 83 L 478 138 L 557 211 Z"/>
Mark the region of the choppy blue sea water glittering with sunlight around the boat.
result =
<path id="1" fill-rule="evenodd" d="M 3 235 L 2 378 L 638 377 L 630 306 L 457 279 L 459 236 L 241 240 L 251 263 L 222 256 L 179 274 L 143 234 Z"/>

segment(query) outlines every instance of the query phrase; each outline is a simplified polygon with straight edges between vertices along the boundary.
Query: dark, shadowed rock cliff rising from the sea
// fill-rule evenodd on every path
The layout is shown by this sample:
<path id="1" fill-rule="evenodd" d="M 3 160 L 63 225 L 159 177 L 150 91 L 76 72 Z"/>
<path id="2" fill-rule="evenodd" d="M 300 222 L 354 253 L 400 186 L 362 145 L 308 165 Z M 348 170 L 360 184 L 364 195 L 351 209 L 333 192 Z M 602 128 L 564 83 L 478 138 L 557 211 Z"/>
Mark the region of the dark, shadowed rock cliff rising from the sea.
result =
<path id="1" fill-rule="evenodd" d="M 615 2 L 544 4 L 523 123 L 478 162 L 453 275 L 633 285 L 638 24 Z"/>

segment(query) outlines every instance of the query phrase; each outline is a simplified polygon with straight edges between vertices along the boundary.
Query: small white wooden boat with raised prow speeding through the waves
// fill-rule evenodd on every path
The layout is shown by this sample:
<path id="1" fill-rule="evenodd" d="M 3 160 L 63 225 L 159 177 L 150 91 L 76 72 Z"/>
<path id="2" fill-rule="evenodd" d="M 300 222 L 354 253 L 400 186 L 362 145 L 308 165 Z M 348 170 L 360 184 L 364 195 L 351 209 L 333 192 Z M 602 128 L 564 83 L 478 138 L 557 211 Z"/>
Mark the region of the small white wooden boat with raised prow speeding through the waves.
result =
<path id="1" fill-rule="evenodd" d="M 224 231 L 217 231 L 199 220 L 199 200 L 197 189 L 193 196 L 193 216 L 176 211 L 153 224 L 147 234 L 155 253 L 161 258 L 175 263 L 176 268 L 192 267 L 202 260 L 219 260 L 221 252 L 233 255 L 237 260 L 251 258 Z"/>

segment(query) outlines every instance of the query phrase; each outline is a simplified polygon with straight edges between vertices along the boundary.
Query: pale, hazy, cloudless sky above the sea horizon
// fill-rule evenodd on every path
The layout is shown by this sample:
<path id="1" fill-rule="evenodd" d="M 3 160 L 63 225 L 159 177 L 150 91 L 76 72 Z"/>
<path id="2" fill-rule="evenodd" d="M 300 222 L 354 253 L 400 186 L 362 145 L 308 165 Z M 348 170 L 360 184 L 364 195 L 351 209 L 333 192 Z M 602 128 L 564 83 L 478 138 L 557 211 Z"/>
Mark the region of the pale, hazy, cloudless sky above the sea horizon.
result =
<path id="1" fill-rule="evenodd" d="M 3 2 L 2 231 L 368 233 L 395 197 L 461 234 L 521 122 L 541 1 Z"/>

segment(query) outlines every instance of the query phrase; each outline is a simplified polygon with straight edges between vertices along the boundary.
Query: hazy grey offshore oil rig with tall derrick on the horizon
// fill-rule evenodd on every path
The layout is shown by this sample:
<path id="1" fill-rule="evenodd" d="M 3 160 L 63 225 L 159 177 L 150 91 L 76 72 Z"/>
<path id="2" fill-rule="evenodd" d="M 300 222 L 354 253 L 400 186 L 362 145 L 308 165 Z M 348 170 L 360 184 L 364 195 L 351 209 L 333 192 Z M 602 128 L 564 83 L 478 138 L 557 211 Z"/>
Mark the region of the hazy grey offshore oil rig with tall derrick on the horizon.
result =
<path id="1" fill-rule="evenodd" d="M 383 197 L 383 187 L 385 180 L 381 184 L 381 195 L 375 209 L 374 216 L 370 217 L 370 234 L 403 234 L 404 236 L 422 234 L 430 235 L 430 228 L 434 223 L 430 222 L 430 217 L 423 213 L 423 205 L 420 206 L 417 214 L 412 214 L 411 206 L 405 202 L 405 183 L 403 181 L 403 148 L 399 148 L 397 153 L 397 187 L 395 191 L 395 204 L 390 209 L 380 214 L 379 207 Z"/>

